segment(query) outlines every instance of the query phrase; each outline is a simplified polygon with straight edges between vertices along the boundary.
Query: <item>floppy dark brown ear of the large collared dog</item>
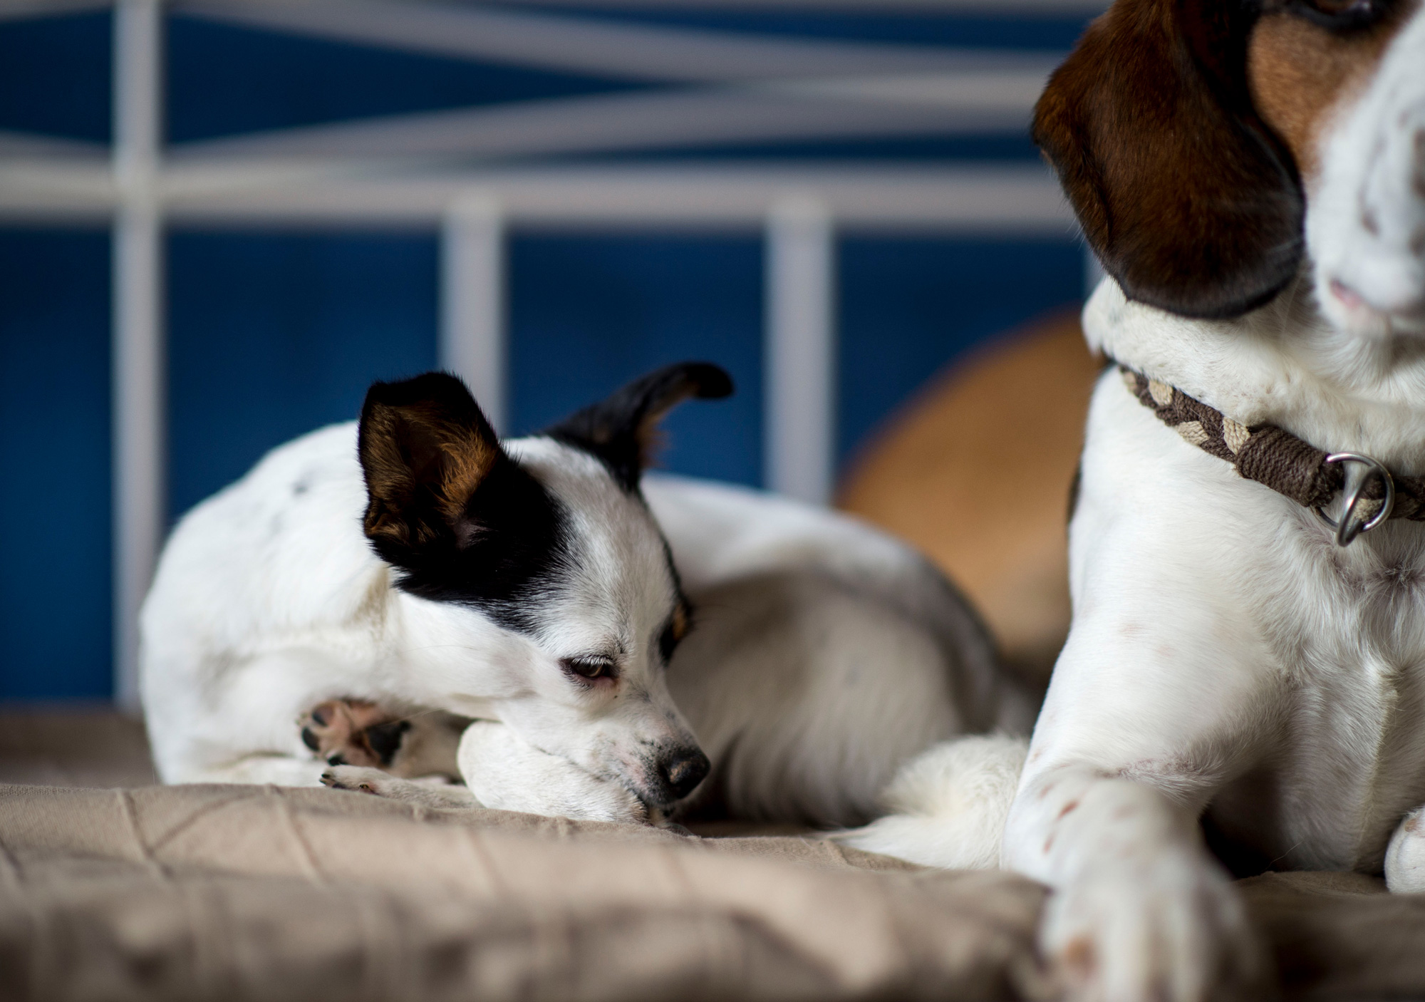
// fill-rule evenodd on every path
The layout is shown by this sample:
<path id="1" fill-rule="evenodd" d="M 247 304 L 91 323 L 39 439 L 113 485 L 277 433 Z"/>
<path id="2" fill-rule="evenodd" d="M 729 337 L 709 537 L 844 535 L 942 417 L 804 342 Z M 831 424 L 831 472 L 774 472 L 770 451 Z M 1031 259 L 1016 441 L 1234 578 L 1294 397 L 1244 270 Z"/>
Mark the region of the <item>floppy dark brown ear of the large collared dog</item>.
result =
<path id="1" fill-rule="evenodd" d="M 1035 141 L 1130 299 L 1237 316 L 1297 274 L 1301 182 L 1247 84 L 1258 7 L 1117 0 L 1039 98 Z"/>

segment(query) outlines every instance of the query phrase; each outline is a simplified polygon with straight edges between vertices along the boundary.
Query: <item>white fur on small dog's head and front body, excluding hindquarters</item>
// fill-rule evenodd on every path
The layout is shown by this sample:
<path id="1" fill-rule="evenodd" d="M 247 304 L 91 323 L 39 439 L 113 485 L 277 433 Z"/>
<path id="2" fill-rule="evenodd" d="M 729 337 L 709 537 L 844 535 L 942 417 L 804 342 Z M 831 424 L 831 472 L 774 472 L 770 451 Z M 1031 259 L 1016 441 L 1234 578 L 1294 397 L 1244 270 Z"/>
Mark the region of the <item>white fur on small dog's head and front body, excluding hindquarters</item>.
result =
<path id="1" fill-rule="evenodd" d="M 543 597 L 539 636 L 393 587 L 361 527 L 355 426 L 275 449 L 174 530 L 141 616 L 141 684 L 168 783 L 319 781 L 296 718 L 331 698 L 510 724 L 526 741 L 644 788 L 647 748 L 691 744 L 654 649 L 673 583 L 646 509 L 591 456 L 510 443 L 574 513 L 579 573 Z M 559 660 L 618 651 L 618 693 Z"/>

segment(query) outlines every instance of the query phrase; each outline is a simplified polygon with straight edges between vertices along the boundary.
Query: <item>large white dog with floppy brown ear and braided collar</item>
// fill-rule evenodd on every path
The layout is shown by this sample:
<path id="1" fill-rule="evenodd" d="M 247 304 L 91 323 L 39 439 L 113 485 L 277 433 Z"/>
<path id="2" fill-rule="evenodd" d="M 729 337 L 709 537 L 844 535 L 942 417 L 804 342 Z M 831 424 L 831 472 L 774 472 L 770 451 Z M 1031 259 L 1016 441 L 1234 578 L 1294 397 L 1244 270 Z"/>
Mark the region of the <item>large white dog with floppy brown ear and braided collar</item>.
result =
<path id="1" fill-rule="evenodd" d="M 1003 861 L 1077 996 L 1261 998 L 1218 859 L 1425 891 L 1425 11 L 1117 0 L 1036 138 L 1117 365 Z M 926 858 L 901 810 L 851 838 Z"/>

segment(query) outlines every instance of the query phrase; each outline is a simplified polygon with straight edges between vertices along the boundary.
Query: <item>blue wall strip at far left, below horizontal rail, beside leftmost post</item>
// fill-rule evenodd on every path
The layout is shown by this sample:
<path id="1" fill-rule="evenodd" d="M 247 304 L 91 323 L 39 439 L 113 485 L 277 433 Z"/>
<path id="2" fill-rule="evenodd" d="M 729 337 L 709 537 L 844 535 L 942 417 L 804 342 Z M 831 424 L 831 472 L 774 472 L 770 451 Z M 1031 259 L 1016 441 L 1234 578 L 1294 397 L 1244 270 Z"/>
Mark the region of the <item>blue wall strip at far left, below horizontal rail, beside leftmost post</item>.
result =
<path id="1" fill-rule="evenodd" d="M 108 234 L 0 231 L 0 698 L 110 691 Z"/>

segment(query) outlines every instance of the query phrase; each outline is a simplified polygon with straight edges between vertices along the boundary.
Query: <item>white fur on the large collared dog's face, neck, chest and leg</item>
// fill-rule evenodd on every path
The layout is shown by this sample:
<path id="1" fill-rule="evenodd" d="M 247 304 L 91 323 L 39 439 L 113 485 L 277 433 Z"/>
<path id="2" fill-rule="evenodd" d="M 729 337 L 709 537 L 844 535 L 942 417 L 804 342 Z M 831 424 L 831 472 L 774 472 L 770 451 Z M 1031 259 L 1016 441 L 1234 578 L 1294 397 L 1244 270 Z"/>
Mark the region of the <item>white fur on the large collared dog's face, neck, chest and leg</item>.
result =
<path id="1" fill-rule="evenodd" d="M 1314 291 L 1304 275 L 1264 309 L 1203 322 L 1106 281 L 1084 309 L 1089 342 L 1238 422 L 1425 473 L 1422 98 L 1416 11 L 1327 130 L 1308 190 Z M 1347 309 L 1332 279 L 1364 305 Z M 1201 814 L 1273 868 L 1384 868 L 1392 889 L 1425 891 L 1425 835 L 1402 821 L 1425 804 L 1425 525 L 1341 549 L 1314 512 L 1184 442 L 1114 371 L 1093 395 L 1082 473 L 1073 627 L 1003 864 L 1054 888 L 1042 944 L 1077 996 L 1257 998 L 1264 954 Z M 901 810 L 933 812 L 921 795 Z M 881 851 L 923 854 L 905 830 Z"/>

